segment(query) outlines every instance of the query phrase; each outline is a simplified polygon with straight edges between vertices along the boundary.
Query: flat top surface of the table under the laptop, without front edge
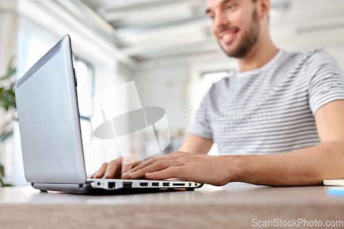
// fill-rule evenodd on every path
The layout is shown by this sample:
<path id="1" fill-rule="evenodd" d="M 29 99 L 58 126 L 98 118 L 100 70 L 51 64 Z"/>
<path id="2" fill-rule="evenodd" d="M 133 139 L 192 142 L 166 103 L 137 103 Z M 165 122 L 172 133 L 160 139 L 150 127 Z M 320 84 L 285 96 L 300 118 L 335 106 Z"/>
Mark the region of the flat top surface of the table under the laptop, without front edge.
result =
<path id="1" fill-rule="evenodd" d="M 327 186 L 268 187 L 252 184 L 206 185 L 195 191 L 90 196 L 58 192 L 41 193 L 31 186 L 0 188 L 0 204 L 90 205 L 340 205 L 344 197 L 327 194 Z"/>

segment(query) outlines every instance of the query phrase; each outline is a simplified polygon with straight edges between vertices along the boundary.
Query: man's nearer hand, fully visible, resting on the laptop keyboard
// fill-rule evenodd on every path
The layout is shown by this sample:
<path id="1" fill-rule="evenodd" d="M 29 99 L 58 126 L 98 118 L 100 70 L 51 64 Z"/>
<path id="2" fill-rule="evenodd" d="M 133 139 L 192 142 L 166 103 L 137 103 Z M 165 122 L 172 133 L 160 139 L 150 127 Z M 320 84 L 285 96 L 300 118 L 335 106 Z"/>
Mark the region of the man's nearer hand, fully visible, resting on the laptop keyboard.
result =
<path id="1" fill-rule="evenodd" d="M 132 168 L 123 179 L 184 178 L 193 182 L 222 186 L 230 182 L 231 156 L 211 156 L 178 151 L 151 158 Z"/>

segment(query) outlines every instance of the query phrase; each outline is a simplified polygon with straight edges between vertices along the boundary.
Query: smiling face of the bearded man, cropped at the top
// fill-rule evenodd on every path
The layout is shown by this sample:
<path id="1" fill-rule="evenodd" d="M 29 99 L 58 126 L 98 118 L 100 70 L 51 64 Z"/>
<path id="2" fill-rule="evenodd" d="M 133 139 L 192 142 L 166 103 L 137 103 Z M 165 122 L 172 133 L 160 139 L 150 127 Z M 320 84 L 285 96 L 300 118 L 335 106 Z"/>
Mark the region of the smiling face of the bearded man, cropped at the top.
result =
<path id="1" fill-rule="evenodd" d="M 243 58 L 257 43 L 261 28 L 257 4 L 252 0 L 208 0 L 206 14 L 228 56 Z"/>

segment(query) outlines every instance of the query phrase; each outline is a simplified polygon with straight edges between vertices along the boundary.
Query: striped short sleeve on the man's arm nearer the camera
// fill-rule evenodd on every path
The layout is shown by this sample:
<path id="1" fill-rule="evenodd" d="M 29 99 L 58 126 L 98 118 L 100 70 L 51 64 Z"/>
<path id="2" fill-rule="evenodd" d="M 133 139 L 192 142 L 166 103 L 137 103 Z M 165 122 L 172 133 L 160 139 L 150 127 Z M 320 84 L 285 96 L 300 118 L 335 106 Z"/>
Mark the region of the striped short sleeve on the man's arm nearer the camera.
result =
<path id="1" fill-rule="evenodd" d="M 336 59 L 317 50 L 308 59 L 308 100 L 314 113 L 323 105 L 334 100 L 344 100 L 344 74 Z"/>

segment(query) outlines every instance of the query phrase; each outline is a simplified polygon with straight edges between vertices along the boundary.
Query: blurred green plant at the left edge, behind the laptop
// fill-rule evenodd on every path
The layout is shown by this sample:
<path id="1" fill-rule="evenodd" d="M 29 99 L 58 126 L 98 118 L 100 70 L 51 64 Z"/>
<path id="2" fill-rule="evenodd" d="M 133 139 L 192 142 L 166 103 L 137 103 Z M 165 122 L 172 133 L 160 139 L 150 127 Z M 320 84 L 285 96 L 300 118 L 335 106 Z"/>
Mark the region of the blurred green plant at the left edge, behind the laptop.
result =
<path id="1" fill-rule="evenodd" d="M 15 117 L 16 112 L 16 100 L 14 97 L 14 84 L 16 69 L 13 66 L 13 58 L 8 65 L 8 72 L 5 76 L 0 78 L 0 109 L 5 109 L 10 113 L 10 117 L 0 127 L 0 141 L 4 142 L 13 134 L 13 122 L 17 120 Z M 3 177 L 5 176 L 5 168 L 0 164 L 0 186 L 10 186 L 10 184 L 3 183 Z"/>

